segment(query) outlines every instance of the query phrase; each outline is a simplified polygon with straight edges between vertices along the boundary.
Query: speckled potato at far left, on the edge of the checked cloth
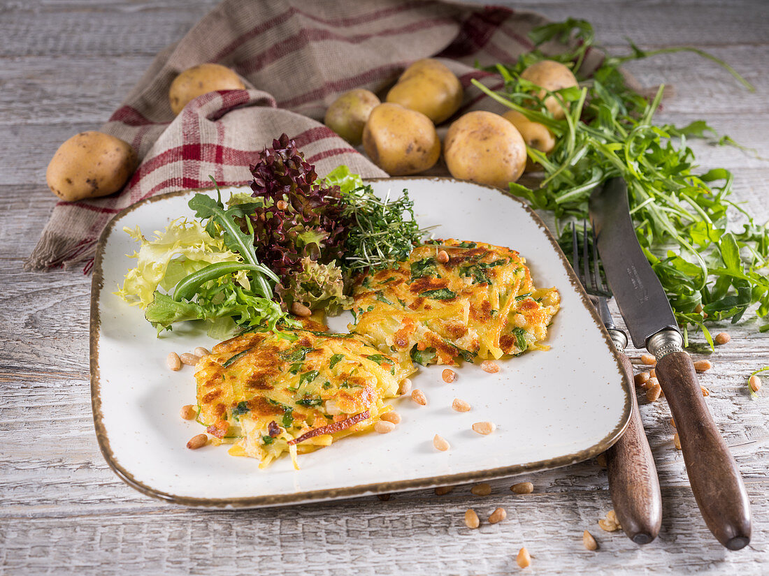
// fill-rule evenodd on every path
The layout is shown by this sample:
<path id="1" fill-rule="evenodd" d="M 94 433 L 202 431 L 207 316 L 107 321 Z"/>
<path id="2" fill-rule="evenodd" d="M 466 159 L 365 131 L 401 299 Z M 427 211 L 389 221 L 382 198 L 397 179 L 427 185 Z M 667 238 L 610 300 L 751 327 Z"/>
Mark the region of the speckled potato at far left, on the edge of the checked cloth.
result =
<path id="1" fill-rule="evenodd" d="M 130 144 L 103 132 L 81 132 L 58 147 L 45 181 L 62 200 L 107 196 L 120 190 L 136 170 Z"/>

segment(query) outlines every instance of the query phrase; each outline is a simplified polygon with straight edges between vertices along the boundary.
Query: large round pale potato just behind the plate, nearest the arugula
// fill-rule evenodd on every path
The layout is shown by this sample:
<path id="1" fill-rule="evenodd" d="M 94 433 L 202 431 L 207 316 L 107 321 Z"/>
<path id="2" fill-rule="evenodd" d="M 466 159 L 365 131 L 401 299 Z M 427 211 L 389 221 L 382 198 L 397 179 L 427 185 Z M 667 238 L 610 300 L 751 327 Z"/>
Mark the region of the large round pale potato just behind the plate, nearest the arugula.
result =
<path id="1" fill-rule="evenodd" d="M 524 172 L 526 144 L 500 115 L 468 112 L 449 127 L 444 157 L 454 178 L 507 188 Z"/>

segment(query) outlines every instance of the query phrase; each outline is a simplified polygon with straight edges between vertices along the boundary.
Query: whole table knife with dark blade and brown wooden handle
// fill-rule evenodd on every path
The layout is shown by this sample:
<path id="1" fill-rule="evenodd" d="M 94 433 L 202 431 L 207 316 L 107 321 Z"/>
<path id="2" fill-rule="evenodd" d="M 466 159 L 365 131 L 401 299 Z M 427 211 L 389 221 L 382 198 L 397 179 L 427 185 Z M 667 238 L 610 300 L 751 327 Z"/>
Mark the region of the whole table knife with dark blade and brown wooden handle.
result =
<path id="1" fill-rule="evenodd" d="M 591 194 L 590 217 L 606 279 L 634 346 L 657 359 L 657 380 L 705 524 L 722 545 L 739 550 L 751 541 L 751 508 L 742 476 L 707 409 L 670 302 L 641 250 L 629 210 L 628 187 L 621 178 L 611 178 Z"/>

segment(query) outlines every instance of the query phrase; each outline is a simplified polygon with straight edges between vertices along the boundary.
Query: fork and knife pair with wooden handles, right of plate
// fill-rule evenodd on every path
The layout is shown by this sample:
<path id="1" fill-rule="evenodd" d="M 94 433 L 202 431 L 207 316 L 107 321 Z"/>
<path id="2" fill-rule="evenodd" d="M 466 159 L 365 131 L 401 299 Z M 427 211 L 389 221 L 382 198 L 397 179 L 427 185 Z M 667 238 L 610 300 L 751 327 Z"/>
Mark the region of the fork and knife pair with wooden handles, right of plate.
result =
<path id="1" fill-rule="evenodd" d="M 591 296 L 628 379 L 633 372 L 624 348 L 628 337 L 614 326 L 607 300 L 614 296 L 633 344 L 657 359 L 657 380 L 681 439 L 691 490 L 701 514 L 721 545 L 744 548 L 751 539 L 751 509 L 737 463 L 707 409 L 670 302 L 635 236 L 628 189 L 611 178 L 591 194 L 593 236 L 583 227 L 582 256 L 573 228 L 572 265 Z M 591 248 L 589 247 L 591 245 Z M 601 279 L 603 266 L 608 287 Z M 661 524 L 661 494 L 654 459 L 634 406 L 628 428 L 606 452 L 614 511 L 628 538 L 639 545 L 654 540 Z"/>

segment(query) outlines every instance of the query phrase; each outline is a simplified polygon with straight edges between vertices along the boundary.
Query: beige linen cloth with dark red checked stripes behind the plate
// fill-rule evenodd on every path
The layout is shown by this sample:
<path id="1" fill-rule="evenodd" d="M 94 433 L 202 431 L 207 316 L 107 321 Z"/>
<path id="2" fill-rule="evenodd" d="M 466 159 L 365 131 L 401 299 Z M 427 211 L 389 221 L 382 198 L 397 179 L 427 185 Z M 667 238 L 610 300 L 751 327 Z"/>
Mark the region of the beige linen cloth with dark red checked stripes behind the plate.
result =
<path id="1" fill-rule="evenodd" d="M 283 132 L 320 175 L 347 164 L 364 177 L 386 176 L 322 124 L 339 94 L 368 88 L 384 96 L 411 62 L 436 57 L 467 88 L 457 115 L 494 110 L 470 82 L 500 88 L 501 79 L 474 63 L 513 62 L 532 48 L 527 32 L 544 22 L 531 12 L 449 2 L 225 0 L 155 58 L 100 128 L 138 152 L 131 180 L 109 197 L 58 202 L 26 266 L 90 270 L 115 214 L 158 194 L 211 187 L 209 174 L 221 185 L 246 184 L 255 152 Z M 247 89 L 205 94 L 174 117 L 171 81 L 203 62 L 233 68 Z"/>

